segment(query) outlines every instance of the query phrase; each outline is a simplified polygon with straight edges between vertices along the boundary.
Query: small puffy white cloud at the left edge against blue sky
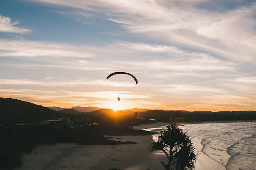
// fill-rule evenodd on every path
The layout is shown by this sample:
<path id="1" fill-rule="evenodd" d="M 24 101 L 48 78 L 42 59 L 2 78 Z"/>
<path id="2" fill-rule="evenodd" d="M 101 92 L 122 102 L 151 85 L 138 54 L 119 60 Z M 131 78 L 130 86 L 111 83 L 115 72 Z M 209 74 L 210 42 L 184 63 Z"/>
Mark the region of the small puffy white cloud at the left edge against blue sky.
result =
<path id="1" fill-rule="evenodd" d="M 19 24 L 18 21 L 11 22 L 11 18 L 0 15 L 0 32 L 5 33 L 26 33 L 30 30 L 18 28 L 15 25 Z"/>

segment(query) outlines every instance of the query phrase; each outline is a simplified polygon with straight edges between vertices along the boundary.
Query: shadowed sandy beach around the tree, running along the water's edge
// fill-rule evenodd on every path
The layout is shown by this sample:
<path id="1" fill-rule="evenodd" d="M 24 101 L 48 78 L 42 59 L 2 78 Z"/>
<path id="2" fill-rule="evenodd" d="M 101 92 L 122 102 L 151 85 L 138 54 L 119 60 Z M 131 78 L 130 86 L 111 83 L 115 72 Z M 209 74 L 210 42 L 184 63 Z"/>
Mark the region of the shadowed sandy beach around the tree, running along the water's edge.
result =
<path id="1" fill-rule="evenodd" d="M 147 129 L 164 126 L 166 123 L 135 126 Z M 161 152 L 151 154 L 148 146 L 152 136 L 113 136 L 117 141 L 134 141 L 138 144 L 128 145 L 77 145 L 55 144 L 37 146 L 31 153 L 22 155 L 23 165 L 14 170 L 163 170 L 161 161 L 166 157 Z M 198 151 L 196 170 L 225 170 L 213 159 L 201 152 L 200 140 L 193 139 Z"/>

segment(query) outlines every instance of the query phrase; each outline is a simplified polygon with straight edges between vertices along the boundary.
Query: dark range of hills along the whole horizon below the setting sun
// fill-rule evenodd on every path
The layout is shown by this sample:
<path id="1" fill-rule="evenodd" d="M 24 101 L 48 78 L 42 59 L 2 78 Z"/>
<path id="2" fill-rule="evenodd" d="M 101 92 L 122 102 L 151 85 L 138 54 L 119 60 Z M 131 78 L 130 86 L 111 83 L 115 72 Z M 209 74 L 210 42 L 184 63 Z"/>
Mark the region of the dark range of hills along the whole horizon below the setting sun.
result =
<path id="1" fill-rule="evenodd" d="M 76 107 L 74 107 L 76 108 Z M 81 108 L 80 108 L 81 109 Z M 83 109 L 83 108 L 82 108 Z M 90 109 L 99 109 L 90 107 Z M 132 109 L 131 109 L 132 110 Z M 91 112 L 80 112 L 74 109 L 64 109 L 55 111 L 50 108 L 36 105 L 30 102 L 21 101 L 18 99 L 1 98 L 0 97 L 0 124 L 18 124 L 29 123 L 31 121 L 49 120 L 61 117 L 80 117 L 83 119 L 90 119 L 90 117 L 104 117 L 111 115 L 112 118 L 120 116 L 129 116 L 138 119 L 155 119 L 155 121 L 162 122 L 205 122 L 205 121 L 243 121 L 255 120 L 256 111 L 184 111 L 184 110 L 147 110 L 135 108 L 131 110 L 118 110 L 103 108 Z M 137 111 L 137 113 L 136 113 Z M 14 121 L 15 120 L 15 121 Z M 102 119 L 104 121 L 104 119 Z M 97 119 L 95 119 L 97 122 Z"/>

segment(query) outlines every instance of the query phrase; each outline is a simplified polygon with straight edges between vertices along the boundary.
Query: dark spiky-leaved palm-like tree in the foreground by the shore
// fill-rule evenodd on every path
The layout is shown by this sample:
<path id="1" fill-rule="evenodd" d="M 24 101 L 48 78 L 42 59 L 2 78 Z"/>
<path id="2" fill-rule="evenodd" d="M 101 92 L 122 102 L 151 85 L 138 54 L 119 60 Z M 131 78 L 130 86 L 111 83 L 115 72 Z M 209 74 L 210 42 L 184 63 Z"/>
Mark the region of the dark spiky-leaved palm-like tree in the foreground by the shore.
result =
<path id="1" fill-rule="evenodd" d="M 150 144 L 150 152 L 161 150 L 168 159 L 168 163 L 162 161 L 165 170 L 192 170 L 196 155 L 189 135 L 178 128 L 176 124 L 170 124 L 164 128 L 157 141 Z"/>

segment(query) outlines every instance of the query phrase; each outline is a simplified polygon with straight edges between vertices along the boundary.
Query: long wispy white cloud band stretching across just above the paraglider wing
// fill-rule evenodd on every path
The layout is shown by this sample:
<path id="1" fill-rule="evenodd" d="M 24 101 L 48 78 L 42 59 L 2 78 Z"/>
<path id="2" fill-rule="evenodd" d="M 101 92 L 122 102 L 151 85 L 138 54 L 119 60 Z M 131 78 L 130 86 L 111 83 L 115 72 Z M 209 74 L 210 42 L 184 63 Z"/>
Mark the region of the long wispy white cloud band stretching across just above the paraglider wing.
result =
<path id="1" fill-rule="evenodd" d="M 158 72 L 168 70 L 175 71 L 180 75 L 184 74 L 181 71 L 189 71 L 189 75 L 197 75 L 191 71 L 236 71 L 237 69 L 236 64 L 233 62 L 220 60 L 206 53 L 191 53 L 174 46 L 157 44 L 116 42 L 110 46 L 92 47 L 2 39 L 0 40 L 0 49 L 2 49 L 0 51 L 0 56 L 2 57 L 34 57 L 34 61 L 43 62 L 41 64 L 18 64 L 20 67 L 29 66 L 30 68 L 52 67 L 104 71 L 113 70 L 113 68 L 120 70 L 132 67 L 133 70 L 138 70 L 139 72 L 141 70 L 144 72 L 148 70 L 158 70 Z M 134 60 L 141 53 L 144 53 L 145 56 L 142 57 L 143 61 L 139 61 L 141 60 L 139 58 Z M 88 60 L 58 60 L 59 57 L 91 57 L 91 64 L 85 67 L 79 64 L 89 63 Z M 47 64 L 45 63 L 46 61 L 48 62 Z M 165 72 L 164 74 L 168 73 Z M 204 74 L 209 73 L 205 72 Z"/>

